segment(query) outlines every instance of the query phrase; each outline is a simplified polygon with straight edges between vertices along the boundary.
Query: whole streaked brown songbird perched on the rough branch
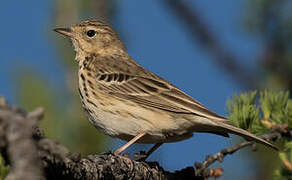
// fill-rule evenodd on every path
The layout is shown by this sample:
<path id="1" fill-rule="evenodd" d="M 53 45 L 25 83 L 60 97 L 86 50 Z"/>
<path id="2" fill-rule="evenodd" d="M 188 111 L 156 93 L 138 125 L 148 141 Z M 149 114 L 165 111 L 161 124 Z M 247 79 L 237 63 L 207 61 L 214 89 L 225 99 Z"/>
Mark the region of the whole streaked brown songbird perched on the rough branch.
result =
<path id="1" fill-rule="evenodd" d="M 110 25 L 90 19 L 54 31 L 72 41 L 78 92 L 89 121 L 106 135 L 127 141 L 115 155 L 134 143 L 154 144 L 146 159 L 163 143 L 188 139 L 195 132 L 231 133 L 278 150 L 142 67 Z"/>

